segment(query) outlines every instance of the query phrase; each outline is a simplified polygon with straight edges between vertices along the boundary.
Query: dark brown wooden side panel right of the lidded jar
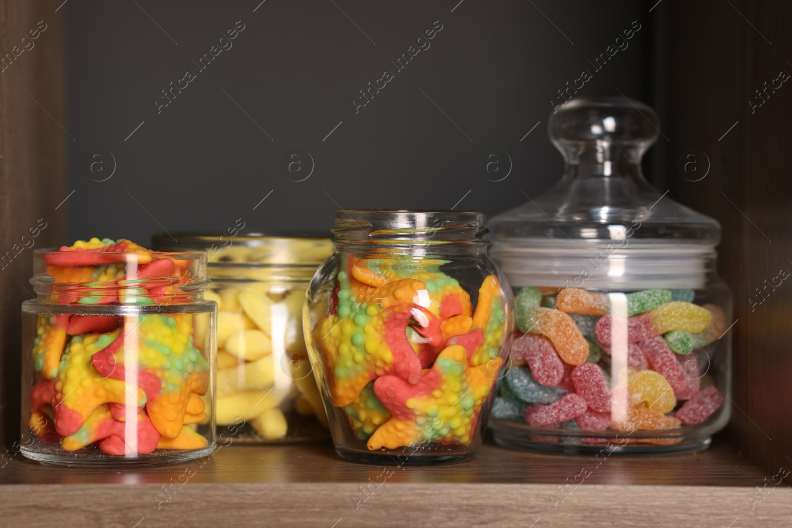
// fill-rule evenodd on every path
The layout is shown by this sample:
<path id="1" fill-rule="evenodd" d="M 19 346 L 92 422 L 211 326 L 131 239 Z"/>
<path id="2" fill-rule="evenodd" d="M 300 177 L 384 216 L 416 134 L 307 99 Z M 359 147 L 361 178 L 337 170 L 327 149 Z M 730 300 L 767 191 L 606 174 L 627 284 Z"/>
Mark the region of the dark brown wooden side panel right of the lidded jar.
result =
<path id="1" fill-rule="evenodd" d="M 737 320 L 730 430 L 748 458 L 775 473 L 792 468 L 792 281 L 775 279 L 783 268 L 792 272 L 792 82 L 776 82 L 780 88 L 768 89 L 761 106 L 749 101 L 761 102 L 754 90 L 781 70 L 792 74 L 792 4 L 664 4 L 668 185 L 671 196 L 722 223 L 719 268 L 733 289 Z M 675 171 L 676 157 L 689 148 L 710 159 L 701 181 Z M 774 279 L 763 300 L 757 288 Z"/>

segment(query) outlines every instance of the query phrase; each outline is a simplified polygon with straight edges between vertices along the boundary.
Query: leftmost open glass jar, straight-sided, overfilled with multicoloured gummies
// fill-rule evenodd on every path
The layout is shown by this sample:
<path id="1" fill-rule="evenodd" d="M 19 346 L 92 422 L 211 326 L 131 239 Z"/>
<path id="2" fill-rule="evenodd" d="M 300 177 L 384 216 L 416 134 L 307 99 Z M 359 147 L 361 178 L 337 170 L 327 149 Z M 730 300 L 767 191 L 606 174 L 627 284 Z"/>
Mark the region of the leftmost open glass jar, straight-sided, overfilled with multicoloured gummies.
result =
<path id="1" fill-rule="evenodd" d="M 22 303 L 22 454 L 63 465 L 211 454 L 206 254 L 92 239 L 37 249 L 33 264 L 36 298 Z"/>

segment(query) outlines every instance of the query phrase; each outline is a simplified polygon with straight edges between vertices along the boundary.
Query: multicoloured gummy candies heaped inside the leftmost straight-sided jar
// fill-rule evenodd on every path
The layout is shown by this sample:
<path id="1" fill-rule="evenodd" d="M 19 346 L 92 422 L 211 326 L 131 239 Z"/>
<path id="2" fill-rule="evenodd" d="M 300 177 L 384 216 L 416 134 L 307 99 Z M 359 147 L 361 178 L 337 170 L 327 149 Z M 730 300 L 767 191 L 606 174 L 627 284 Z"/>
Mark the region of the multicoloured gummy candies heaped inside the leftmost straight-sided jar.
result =
<path id="1" fill-rule="evenodd" d="M 181 292 L 191 262 L 97 238 L 46 253 L 44 262 L 53 304 L 37 316 L 29 417 L 40 441 L 65 451 L 97 443 L 111 455 L 208 446 L 195 431 L 208 420 L 202 396 L 211 374 L 195 320 L 208 314 L 54 313 L 58 304 L 191 302 Z"/>

